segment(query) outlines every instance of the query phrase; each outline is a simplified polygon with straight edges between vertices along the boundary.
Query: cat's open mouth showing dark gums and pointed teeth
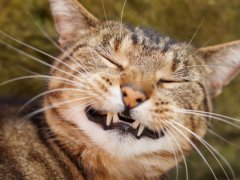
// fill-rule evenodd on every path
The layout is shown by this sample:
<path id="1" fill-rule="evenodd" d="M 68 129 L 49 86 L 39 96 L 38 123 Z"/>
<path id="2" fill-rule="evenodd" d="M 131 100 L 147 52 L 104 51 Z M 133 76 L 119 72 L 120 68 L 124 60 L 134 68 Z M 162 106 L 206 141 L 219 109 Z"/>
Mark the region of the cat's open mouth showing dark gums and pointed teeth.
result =
<path id="1" fill-rule="evenodd" d="M 130 133 L 137 139 L 141 137 L 158 139 L 164 136 L 163 131 L 160 133 L 154 132 L 124 114 L 103 114 L 94 109 L 86 108 L 86 115 L 90 121 L 101 125 L 104 130 L 119 130 L 121 133 Z"/>

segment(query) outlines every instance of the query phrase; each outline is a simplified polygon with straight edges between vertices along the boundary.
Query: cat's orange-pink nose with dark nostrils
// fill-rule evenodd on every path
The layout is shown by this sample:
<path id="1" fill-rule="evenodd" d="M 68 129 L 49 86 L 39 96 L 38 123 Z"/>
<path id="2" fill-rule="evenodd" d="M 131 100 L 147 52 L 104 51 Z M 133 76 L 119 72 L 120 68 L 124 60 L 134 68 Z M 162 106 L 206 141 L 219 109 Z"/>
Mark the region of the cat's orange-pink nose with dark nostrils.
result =
<path id="1" fill-rule="evenodd" d="M 123 86 L 121 90 L 123 95 L 123 102 L 128 108 L 134 108 L 147 99 L 146 93 L 144 93 L 144 91 L 135 89 L 134 87 L 126 85 Z"/>

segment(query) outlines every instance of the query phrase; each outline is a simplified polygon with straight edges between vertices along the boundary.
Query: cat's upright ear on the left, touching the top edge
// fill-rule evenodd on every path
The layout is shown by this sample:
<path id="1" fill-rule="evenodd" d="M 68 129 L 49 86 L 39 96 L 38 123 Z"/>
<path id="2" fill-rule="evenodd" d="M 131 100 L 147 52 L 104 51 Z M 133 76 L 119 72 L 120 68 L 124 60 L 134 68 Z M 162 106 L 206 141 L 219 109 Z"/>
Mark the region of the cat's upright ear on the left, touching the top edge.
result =
<path id="1" fill-rule="evenodd" d="M 50 3 L 59 43 L 64 48 L 74 43 L 82 32 L 100 23 L 77 0 L 50 0 Z"/>

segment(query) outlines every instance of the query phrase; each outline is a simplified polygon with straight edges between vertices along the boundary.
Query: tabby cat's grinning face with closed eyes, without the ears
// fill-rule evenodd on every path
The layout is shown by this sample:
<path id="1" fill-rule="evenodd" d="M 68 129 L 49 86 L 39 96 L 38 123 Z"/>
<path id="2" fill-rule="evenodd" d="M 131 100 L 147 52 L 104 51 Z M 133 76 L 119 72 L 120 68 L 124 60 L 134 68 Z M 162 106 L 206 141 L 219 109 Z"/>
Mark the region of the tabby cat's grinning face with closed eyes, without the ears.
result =
<path id="1" fill-rule="evenodd" d="M 114 147 L 137 147 L 142 142 L 156 144 L 153 152 L 163 148 L 162 142 L 164 148 L 171 147 L 167 142 L 175 131 L 172 121 L 201 136 L 206 131 L 206 119 L 177 111 L 209 111 L 203 80 L 207 68 L 201 67 L 206 64 L 189 45 L 153 33 L 119 23 L 100 25 L 76 40 L 68 52 L 71 58 L 68 54 L 61 58 L 72 69 L 56 63 L 71 77 L 52 71 L 53 76 L 74 81 L 78 87 L 71 88 L 80 91 L 64 91 L 57 98 L 60 102 L 78 99 L 62 110 L 73 116 L 68 120 L 101 146 L 112 144 L 111 153 L 116 152 Z M 49 84 L 50 90 L 69 87 L 63 82 Z"/>

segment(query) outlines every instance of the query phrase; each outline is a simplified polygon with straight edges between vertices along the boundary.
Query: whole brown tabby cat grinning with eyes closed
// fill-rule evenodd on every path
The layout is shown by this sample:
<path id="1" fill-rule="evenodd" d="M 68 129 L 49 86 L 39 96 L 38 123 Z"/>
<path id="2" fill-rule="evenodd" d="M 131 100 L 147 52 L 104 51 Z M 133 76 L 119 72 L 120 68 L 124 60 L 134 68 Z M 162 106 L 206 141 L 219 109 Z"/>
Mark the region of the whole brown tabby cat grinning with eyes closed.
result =
<path id="1" fill-rule="evenodd" d="M 77 0 L 50 5 L 62 54 L 42 108 L 21 118 L 21 103 L 1 105 L 0 178 L 163 179 L 186 165 L 240 70 L 240 41 L 195 48 Z"/>

